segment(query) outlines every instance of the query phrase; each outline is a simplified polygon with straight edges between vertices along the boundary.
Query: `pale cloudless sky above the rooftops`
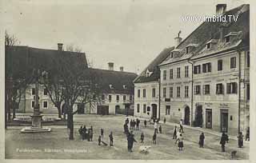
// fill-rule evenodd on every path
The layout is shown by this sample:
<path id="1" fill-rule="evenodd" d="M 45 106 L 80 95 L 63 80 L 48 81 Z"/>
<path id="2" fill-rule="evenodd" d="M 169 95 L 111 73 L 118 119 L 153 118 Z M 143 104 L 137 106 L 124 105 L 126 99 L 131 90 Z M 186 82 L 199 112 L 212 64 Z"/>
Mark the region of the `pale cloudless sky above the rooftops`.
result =
<path id="1" fill-rule="evenodd" d="M 9 0 L 2 8 L 5 28 L 20 46 L 57 50 L 57 43 L 86 53 L 94 68 L 139 74 L 174 38 L 184 39 L 202 22 L 184 16 L 210 16 L 218 3 L 227 10 L 246 0 Z"/>

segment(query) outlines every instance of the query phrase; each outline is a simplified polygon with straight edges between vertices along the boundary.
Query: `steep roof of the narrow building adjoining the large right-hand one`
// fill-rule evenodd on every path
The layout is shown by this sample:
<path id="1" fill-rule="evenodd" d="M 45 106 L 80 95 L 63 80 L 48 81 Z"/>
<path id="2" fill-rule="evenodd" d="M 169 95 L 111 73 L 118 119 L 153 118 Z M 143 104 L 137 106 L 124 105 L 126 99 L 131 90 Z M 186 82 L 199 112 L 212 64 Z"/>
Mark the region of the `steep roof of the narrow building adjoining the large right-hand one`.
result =
<path id="1" fill-rule="evenodd" d="M 158 54 L 157 58 L 154 58 L 154 60 L 150 62 L 150 65 L 146 66 L 146 69 L 143 70 L 137 78 L 135 78 L 134 83 L 158 81 L 158 78 L 160 78 L 160 69 L 158 68 L 158 64 L 163 62 L 170 55 L 171 50 L 174 50 L 174 47 L 162 50 L 162 52 Z M 149 77 L 146 76 L 147 70 L 152 72 Z"/>

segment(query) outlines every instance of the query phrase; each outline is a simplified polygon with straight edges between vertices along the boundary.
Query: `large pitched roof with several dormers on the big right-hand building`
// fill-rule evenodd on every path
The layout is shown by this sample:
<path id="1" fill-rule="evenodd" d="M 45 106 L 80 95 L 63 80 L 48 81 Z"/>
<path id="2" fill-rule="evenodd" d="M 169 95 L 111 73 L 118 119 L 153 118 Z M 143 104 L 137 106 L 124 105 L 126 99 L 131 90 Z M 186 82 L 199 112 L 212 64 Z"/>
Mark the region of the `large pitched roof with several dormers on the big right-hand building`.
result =
<path id="1" fill-rule="evenodd" d="M 234 19 L 231 22 L 202 22 L 200 26 L 196 30 L 194 30 L 186 39 L 184 39 L 176 48 L 181 49 L 180 54 L 177 58 L 166 58 L 160 66 L 166 65 L 173 62 L 184 61 L 190 58 L 198 58 L 202 57 L 205 54 L 211 54 L 220 52 L 222 50 L 229 50 L 237 46 L 241 45 L 249 45 L 249 21 L 250 21 L 250 12 L 249 5 L 238 6 L 232 10 L 226 11 L 224 15 L 238 15 L 237 22 Z M 221 30 L 220 26 L 224 28 L 223 36 L 226 34 L 234 34 L 241 32 L 238 38 L 235 39 L 235 42 L 232 41 L 229 44 L 225 44 L 220 40 Z M 206 43 L 210 42 L 211 39 L 218 40 L 215 48 L 211 48 L 211 50 L 206 49 Z M 190 44 L 198 44 L 197 47 L 194 48 L 190 54 L 186 54 L 186 46 Z M 225 45 L 224 45 L 225 44 Z M 215 50 L 215 51 L 214 51 Z"/>

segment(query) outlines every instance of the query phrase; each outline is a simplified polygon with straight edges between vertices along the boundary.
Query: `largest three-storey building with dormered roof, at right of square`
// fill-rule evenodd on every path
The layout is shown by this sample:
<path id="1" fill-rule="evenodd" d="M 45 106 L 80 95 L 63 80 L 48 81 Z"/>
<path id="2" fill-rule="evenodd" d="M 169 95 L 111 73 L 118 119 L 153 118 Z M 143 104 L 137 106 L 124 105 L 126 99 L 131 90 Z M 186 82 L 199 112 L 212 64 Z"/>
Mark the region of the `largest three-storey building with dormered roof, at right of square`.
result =
<path id="1" fill-rule="evenodd" d="M 249 5 L 229 11 L 225 4 L 217 5 L 218 16 L 238 19 L 203 22 L 159 65 L 161 118 L 183 119 L 187 125 L 220 132 L 245 132 L 250 99 L 249 13 Z"/>

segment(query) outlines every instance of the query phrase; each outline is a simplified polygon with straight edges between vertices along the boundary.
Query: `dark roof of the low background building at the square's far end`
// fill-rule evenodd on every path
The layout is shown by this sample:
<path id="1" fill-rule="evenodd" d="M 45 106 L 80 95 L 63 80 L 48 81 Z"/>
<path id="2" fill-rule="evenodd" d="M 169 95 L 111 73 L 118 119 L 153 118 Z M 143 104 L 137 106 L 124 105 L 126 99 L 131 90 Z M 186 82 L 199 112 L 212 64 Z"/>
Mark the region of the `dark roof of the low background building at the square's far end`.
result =
<path id="1" fill-rule="evenodd" d="M 114 70 L 88 69 L 90 74 L 94 74 L 98 84 L 105 93 L 130 93 L 134 94 L 134 78 L 138 75 L 134 73 Z M 110 88 L 112 85 L 113 89 Z M 125 85 L 125 86 L 124 86 Z"/>

